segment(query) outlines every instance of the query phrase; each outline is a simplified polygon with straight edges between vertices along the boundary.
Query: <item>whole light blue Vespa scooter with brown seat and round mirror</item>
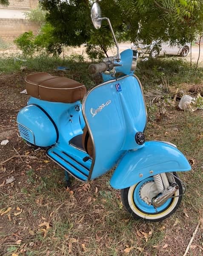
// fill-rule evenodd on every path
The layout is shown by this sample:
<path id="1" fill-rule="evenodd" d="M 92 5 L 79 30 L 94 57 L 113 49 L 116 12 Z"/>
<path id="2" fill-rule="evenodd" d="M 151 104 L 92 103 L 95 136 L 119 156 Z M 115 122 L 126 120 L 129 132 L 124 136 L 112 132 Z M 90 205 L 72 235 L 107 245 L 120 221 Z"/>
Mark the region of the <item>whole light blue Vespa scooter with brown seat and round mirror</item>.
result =
<path id="1" fill-rule="evenodd" d="M 110 184 L 121 189 L 130 214 L 160 221 L 182 200 L 184 186 L 176 172 L 191 167 L 172 143 L 145 142 L 146 106 L 132 69 L 137 55 L 133 57 L 131 49 L 119 53 L 111 23 L 101 17 L 98 3 L 91 8 L 91 19 L 96 29 L 108 21 L 117 46 L 116 56 L 89 67 L 90 73 L 102 73 L 103 83 L 86 93 L 83 84 L 68 78 L 27 76 L 31 97 L 17 115 L 20 136 L 29 145 L 46 148 L 48 157 L 80 181 L 114 168 Z"/>

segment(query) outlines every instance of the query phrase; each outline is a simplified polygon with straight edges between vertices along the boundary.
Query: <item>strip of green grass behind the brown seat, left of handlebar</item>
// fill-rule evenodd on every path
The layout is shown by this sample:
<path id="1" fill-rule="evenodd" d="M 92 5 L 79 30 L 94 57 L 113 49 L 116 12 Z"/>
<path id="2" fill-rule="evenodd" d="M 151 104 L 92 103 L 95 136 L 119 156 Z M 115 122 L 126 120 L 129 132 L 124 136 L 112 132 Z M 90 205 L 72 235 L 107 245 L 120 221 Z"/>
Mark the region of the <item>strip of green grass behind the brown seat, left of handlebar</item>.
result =
<path id="1" fill-rule="evenodd" d="M 67 67 L 65 72 L 58 71 L 57 67 Z M 24 71 L 22 71 L 22 68 Z M 22 72 L 26 73 L 48 72 L 51 74 L 67 76 L 86 85 L 87 88 L 95 86 L 88 72 L 89 62 L 84 61 L 82 55 L 72 54 L 64 59 L 60 57 L 51 57 L 48 55 L 37 55 L 34 57 L 9 56 L 0 57 L 0 74 L 9 74 Z M 59 74 L 60 73 L 60 74 Z"/>

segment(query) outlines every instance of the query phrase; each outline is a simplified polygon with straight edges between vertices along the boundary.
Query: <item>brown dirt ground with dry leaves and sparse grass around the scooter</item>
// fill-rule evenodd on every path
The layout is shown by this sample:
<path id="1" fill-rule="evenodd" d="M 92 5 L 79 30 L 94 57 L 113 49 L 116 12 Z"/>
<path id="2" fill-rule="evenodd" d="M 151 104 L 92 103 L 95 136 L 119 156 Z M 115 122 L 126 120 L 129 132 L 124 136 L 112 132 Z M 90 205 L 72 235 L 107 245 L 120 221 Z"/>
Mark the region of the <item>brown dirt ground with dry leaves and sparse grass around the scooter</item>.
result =
<path id="1" fill-rule="evenodd" d="M 193 170 L 181 175 L 188 191 L 171 218 L 134 221 L 108 175 L 85 184 L 73 180 L 66 190 L 63 170 L 17 136 L 16 115 L 28 99 L 20 94 L 25 75 L 0 76 L 0 141 L 9 140 L 0 146 L 0 256 L 183 255 L 203 218 L 202 112 L 169 109 L 149 125 L 148 140 L 178 144 Z M 200 222 L 188 255 L 203 255 L 202 234 Z"/>

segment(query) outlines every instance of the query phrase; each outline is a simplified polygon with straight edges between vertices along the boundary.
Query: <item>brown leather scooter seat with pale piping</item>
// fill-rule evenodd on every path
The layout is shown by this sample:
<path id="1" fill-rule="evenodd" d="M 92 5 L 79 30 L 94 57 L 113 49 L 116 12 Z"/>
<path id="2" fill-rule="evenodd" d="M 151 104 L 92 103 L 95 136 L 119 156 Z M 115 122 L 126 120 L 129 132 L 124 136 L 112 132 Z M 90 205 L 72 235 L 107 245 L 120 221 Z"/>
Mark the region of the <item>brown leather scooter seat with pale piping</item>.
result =
<path id="1" fill-rule="evenodd" d="M 83 99 L 86 93 L 85 85 L 45 72 L 26 76 L 25 81 L 30 96 L 50 102 L 72 103 Z"/>

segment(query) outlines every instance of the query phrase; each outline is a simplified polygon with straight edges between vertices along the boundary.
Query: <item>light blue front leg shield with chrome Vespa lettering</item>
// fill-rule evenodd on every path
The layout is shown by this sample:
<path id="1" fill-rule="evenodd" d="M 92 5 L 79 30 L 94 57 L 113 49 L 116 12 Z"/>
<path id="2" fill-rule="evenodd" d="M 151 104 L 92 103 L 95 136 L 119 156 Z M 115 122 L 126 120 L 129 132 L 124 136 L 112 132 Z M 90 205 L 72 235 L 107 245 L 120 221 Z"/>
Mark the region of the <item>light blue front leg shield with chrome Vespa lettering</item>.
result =
<path id="1" fill-rule="evenodd" d="M 135 76 L 94 87 L 83 100 L 83 116 L 95 153 L 89 179 L 109 171 L 126 150 L 143 146 L 134 139 L 146 126 L 145 103 Z"/>

